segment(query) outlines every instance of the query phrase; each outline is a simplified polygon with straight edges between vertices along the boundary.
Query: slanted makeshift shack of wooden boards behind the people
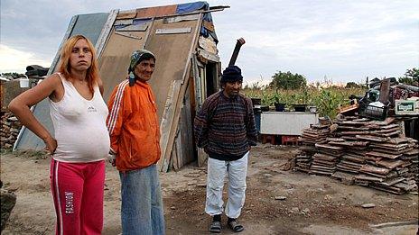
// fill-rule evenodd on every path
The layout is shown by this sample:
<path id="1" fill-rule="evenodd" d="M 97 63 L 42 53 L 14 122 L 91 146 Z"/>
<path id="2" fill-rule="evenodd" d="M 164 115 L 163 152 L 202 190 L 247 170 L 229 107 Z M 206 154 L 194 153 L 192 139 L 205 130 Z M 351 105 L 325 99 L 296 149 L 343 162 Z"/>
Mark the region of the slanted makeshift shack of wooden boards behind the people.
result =
<path id="1" fill-rule="evenodd" d="M 221 68 L 211 12 L 225 8 L 195 2 L 79 14 L 71 18 L 62 39 L 61 46 L 71 36 L 83 34 L 94 43 L 106 102 L 113 88 L 126 79 L 131 53 L 138 49 L 154 52 L 156 69 L 150 84 L 162 133 L 159 167 L 163 172 L 197 159 L 201 164 L 205 158 L 195 148 L 192 123 L 205 98 L 219 91 Z M 56 70 L 61 46 L 48 75 Z M 33 113 L 53 133 L 46 99 L 33 107 Z M 43 141 L 25 128 L 14 144 L 14 149 L 43 148 Z"/>

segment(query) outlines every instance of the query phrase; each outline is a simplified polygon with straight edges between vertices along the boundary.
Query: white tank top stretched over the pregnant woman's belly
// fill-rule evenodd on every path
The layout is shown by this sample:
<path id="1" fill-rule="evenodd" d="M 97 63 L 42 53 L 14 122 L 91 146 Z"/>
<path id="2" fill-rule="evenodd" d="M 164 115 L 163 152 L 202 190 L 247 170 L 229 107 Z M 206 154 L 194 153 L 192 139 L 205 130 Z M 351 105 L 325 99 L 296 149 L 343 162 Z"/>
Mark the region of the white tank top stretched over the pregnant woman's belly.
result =
<path id="1" fill-rule="evenodd" d="M 92 162 L 105 159 L 110 140 L 107 132 L 107 104 L 98 86 L 91 100 L 85 99 L 62 75 L 64 96 L 49 99 L 50 114 L 58 146 L 52 158 L 63 162 Z"/>

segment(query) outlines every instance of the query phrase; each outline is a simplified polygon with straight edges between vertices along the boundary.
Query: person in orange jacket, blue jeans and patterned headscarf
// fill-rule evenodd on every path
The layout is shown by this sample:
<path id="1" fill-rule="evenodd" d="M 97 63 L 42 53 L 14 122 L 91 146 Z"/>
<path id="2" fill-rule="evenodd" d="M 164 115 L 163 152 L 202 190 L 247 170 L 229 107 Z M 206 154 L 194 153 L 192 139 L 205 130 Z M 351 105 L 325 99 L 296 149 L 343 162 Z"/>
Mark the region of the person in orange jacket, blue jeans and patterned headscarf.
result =
<path id="1" fill-rule="evenodd" d="M 160 128 L 151 86 L 155 57 L 135 50 L 128 78 L 115 87 L 109 102 L 107 130 L 113 163 L 121 179 L 123 234 L 164 234 L 163 202 L 156 163 Z"/>

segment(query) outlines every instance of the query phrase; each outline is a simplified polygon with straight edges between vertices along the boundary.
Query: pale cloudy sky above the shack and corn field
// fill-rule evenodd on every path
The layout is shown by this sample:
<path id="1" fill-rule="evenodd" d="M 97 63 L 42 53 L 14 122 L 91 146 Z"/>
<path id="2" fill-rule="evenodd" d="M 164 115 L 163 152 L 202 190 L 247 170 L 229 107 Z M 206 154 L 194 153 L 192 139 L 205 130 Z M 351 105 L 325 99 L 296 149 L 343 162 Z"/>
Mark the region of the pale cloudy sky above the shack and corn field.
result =
<path id="1" fill-rule="evenodd" d="M 108 13 L 191 1 L 0 0 L 0 72 L 50 67 L 76 14 Z M 419 67 L 419 1 L 233 0 L 212 13 L 222 68 L 244 38 L 237 66 L 244 83 L 267 84 L 278 71 L 308 82 L 363 83 Z"/>

